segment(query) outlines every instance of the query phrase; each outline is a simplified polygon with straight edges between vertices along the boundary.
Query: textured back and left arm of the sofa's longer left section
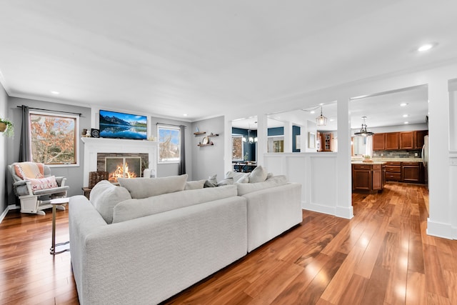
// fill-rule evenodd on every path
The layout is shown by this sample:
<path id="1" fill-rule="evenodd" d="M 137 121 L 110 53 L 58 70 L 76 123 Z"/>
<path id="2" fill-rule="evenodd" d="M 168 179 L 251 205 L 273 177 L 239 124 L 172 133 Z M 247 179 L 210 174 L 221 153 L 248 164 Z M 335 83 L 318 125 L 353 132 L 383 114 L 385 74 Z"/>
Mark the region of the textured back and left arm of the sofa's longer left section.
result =
<path id="1" fill-rule="evenodd" d="M 109 225 L 79 197 L 84 200 L 70 200 L 69 214 L 81 304 L 156 304 L 246 255 L 241 197 Z"/>

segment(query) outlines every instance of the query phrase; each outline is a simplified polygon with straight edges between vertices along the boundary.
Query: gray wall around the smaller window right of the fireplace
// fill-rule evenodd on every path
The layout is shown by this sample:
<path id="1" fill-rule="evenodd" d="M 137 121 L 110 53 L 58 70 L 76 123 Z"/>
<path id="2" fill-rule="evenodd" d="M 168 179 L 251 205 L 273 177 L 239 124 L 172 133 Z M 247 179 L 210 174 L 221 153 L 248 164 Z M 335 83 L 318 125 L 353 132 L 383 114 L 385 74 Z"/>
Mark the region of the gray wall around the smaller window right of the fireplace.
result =
<path id="1" fill-rule="evenodd" d="M 158 117 L 151 117 L 151 133 L 152 136 L 157 138 L 157 123 L 162 124 L 171 124 L 171 125 L 184 125 L 186 126 L 185 141 L 186 141 L 186 174 L 189 175 L 187 178 L 188 181 L 192 179 L 192 148 L 193 142 L 192 138 L 194 137 L 192 131 L 192 124 L 190 122 L 176 121 L 171 119 L 162 119 Z M 176 176 L 178 174 L 178 163 L 169 163 L 169 164 L 157 164 L 157 176 L 167 177 L 167 176 Z"/>

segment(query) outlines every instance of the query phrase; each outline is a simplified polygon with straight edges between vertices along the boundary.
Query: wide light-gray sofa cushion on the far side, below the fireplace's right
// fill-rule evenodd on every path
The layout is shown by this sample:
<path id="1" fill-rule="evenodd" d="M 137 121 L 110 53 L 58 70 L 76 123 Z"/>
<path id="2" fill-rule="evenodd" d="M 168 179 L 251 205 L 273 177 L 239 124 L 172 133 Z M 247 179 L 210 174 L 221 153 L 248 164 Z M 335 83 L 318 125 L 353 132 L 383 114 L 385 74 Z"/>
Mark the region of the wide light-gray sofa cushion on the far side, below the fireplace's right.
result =
<path id="1" fill-rule="evenodd" d="M 183 191 L 187 174 L 161 178 L 118 178 L 119 184 L 129 190 L 131 198 L 142 199 L 161 194 Z"/>

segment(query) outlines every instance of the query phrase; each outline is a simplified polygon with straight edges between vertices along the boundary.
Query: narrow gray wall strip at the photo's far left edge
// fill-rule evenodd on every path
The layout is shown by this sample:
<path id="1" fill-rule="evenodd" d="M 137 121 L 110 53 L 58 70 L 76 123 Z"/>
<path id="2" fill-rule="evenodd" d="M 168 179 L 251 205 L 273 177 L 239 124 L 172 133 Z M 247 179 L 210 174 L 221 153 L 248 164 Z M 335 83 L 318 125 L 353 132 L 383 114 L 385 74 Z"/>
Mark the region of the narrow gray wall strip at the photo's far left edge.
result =
<path id="1" fill-rule="evenodd" d="M 5 119 L 8 116 L 8 95 L 5 89 L 0 84 L 0 117 Z M 0 215 L 6 210 L 6 175 L 8 171 L 6 169 L 6 146 L 7 143 L 11 143 L 11 138 L 7 138 L 4 135 L 0 136 L 0 169 L 3 174 L 0 175 Z"/>

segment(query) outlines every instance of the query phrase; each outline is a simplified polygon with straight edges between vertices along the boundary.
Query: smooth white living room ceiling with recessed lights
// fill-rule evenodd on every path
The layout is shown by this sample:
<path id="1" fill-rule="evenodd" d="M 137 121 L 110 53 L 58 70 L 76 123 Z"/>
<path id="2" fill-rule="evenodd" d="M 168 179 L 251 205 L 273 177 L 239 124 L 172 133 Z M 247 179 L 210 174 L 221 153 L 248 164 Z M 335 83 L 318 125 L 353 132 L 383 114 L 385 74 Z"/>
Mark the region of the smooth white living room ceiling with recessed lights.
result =
<path id="1" fill-rule="evenodd" d="M 2 1 L 0 81 L 10 96 L 195 121 L 456 61 L 456 11 L 451 0 Z"/>

